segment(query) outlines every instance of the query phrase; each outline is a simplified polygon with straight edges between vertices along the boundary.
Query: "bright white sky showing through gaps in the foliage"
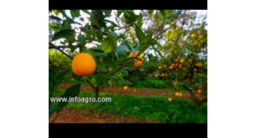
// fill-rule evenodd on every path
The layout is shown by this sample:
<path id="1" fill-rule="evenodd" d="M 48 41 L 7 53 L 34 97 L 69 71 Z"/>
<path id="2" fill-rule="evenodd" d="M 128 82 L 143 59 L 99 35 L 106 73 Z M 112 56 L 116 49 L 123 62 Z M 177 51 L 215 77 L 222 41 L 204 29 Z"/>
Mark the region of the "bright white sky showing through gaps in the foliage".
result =
<path id="1" fill-rule="evenodd" d="M 89 10 L 89 11 L 90 11 L 90 10 Z M 191 11 L 191 12 L 195 11 L 195 12 L 197 13 L 196 22 L 197 22 L 198 19 L 200 19 L 200 17 L 201 17 L 202 15 L 207 14 L 207 10 L 190 10 L 190 11 Z M 108 18 L 105 18 L 105 19 L 110 20 L 110 21 L 112 21 L 112 22 L 114 22 L 114 23 L 117 24 L 117 21 L 115 20 L 115 12 L 117 13 L 117 10 L 112 10 L 111 16 L 108 17 Z M 140 10 L 134 10 L 134 13 L 135 13 L 136 15 L 139 15 Z M 66 10 L 66 14 L 71 18 L 70 10 Z M 87 13 L 83 12 L 83 11 L 81 11 L 80 14 L 81 14 L 81 16 L 84 18 L 84 22 L 82 22 L 82 21 L 79 20 L 78 18 L 75 18 L 74 21 L 75 21 L 75 22 L 78 22 L 78 23 L 81 23 L 83 26 L 85 26 L 85 25 L 89 22 L 89 20 L 88 20 L 89 15 L 88 15 Z M 123 13 L 122 13 L 122 14 L 123 14 Z M 122 14 L 121 14 L 120 16 L 122 16 Z M 62 14 L 59 14 L 58 17 L 61 18 L 61 19 L 63 19 Z M 207 22 L 207 18 L 206 18 L 206 22 Z M 107 26 L 109 26 L 109 25 L 110 25 L 110 23 L 107 23 Z M 124 26 L 124 25 L 122 25 L 121 23 L 120 23 L 120 25 L 121 25 L 121 26 Z M 75 27 L 75 28 L 81 27 L 80 25 L 77 25 L 77 24 L 72 24 L 71 26 L 72 26 L 72 28 L 73 28 L 73 27 Z M 145 23 L 143 23 L 142 28 L 143 28 L 143 29 L 146 29 L 146 28 L 148 28 L 148 25 L 145 24 Z M 80 30 L 77 30 L 76 32 L 79 32 L 79 31 L 80 31 Z M 116 32 L 116 33 L 121 33 L 122 31 L 120 30 L 120 31 L 115 31 L 115 32 Z M 54 43 L 55 45 L 62 45 L 60 42 L 63 41 L 63 40 L 64 40 L 64 39 L 59 39 L 59 40 L 54 41 L 53 43 Z M 97 43 L 97 42 L 95 42 L 95 43 Z M 118 43 L 118 44 L 119 44 L 119 43 Z M 88 48 L 93 47 L 93 46 L 94 46 L 94 44 L 87 44 L 87 45 L 86 45 L 86 47 L 88 47 Z M 149 53 L 154 54 L 153 51 L 150 51 Z"/>

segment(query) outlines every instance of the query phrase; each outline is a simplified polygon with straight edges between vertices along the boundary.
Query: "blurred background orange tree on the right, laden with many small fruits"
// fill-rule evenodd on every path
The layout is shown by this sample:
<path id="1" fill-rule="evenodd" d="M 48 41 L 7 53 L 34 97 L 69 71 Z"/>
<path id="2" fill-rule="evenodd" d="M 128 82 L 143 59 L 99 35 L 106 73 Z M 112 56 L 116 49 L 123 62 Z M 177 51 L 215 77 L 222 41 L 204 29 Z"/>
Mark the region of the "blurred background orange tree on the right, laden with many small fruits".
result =
<path id="1" fill-rule="evenodd" d="M 175 27 L 165 34 L 166 43 L 157 49 L 162 54 L 157 68 L 161 78 L 171 81 L 175 96 L 186 90 L 199 107 L 207 102 L 207 24 L 204 19 L 195 24 L 190 16 L 188 29 Z"/>

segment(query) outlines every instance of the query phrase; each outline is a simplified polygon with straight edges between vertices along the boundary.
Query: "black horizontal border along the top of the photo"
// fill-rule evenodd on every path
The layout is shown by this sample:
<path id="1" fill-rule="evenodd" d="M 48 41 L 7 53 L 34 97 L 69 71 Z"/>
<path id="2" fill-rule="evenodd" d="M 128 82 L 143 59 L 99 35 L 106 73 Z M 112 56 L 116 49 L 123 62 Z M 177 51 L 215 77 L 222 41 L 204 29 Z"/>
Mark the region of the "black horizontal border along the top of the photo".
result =
<path id="1" fill-rule="evenodd" d="M 49 0 L 49 9 L 207 9 L 207 0 L 176 1 L 60 1 Z"/>

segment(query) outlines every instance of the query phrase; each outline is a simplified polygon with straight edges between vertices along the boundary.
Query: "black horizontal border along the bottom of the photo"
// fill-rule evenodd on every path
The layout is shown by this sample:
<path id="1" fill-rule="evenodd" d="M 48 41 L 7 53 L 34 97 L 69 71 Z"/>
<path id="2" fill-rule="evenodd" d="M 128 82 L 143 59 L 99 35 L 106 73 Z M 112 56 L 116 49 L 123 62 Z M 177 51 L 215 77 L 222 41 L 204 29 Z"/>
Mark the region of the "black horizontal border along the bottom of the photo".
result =
<path id="1" fill-rule="evenodd" d="M 49 137 L 92 135 L 112 136 L 165 136 L 207 138 L 207 123 L 204 124 L 49 124 Z"/>

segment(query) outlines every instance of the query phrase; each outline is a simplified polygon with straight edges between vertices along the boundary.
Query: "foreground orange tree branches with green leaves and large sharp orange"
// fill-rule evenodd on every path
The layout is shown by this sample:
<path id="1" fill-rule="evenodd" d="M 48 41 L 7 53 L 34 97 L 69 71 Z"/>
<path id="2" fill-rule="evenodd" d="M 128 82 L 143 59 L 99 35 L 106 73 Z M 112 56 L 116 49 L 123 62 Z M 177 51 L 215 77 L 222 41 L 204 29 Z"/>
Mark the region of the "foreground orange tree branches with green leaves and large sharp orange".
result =
<path id="1" fill-rule="evenodd" d="M 85 25 L 77 21 L 77 19 L 84 21 L 81 12 L 89 15 L 89 21 Z M 58 73 L 49 73 L 54 74 L 49 76 L 49 117 L 54 111 L 57 111 L 58 115 L 68 103 L 52 103 L 50 100 L 56 95 L 56 89 L 66 74 L 74 73 L 79 83 L 68 88 L 61 97 L 78 96 L 81 83 L 86 82 L 92 86 L 97 98 L 100 89 L 116 78 L 122 77 L 122 74 L 120 75 L 122 70 L 139 67 L 143 62 L 142 54 L 149 46 L 161 46 L 150 30 L 143 30 L 144 32 L 141 30 L 142 14 L 136 15 L 133 10 L 118 10 L 116 19 L 123 13 L 122 20 L 125 22 L 125 26 L 121 27 L 119 23 L 115 24 L 106 19 L 111 16 L 111 12 L 111 10 L 70 10 L 71 17 L 69 17 L 65 10 L 49 10 L 49 49 L 60 51 L 70 59 L 69 64 L 71 64 Z M 172 16 L 172 10 L 163 12 L 166 13 L 166 21 L 178 16 L 178 14 Z M 57 16 L 59 14 L 63 19 Z M 117 30 L 121 29 L 125 31 L 118 33 Z M 133 34 L 136 38 L 132 36 Z M 60 44 L 54 44 L 56 41 Z M 88 44 L 94 46 L 88 48 Z"/>

